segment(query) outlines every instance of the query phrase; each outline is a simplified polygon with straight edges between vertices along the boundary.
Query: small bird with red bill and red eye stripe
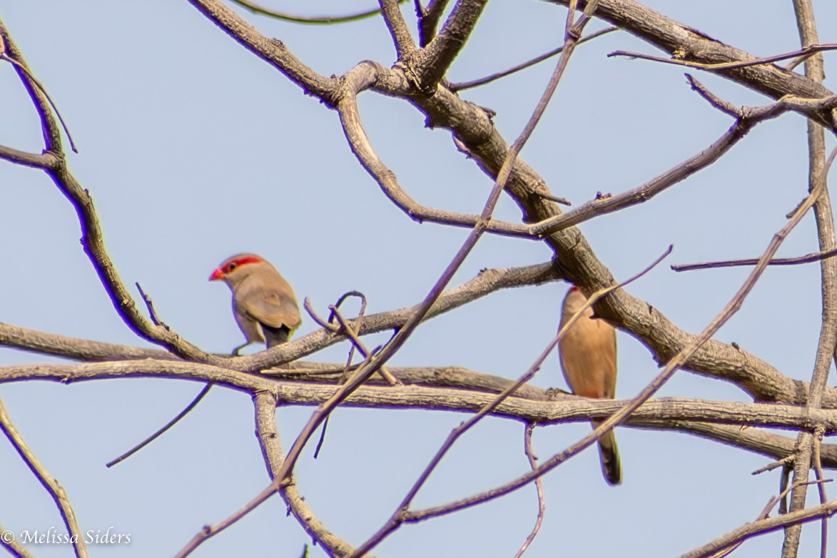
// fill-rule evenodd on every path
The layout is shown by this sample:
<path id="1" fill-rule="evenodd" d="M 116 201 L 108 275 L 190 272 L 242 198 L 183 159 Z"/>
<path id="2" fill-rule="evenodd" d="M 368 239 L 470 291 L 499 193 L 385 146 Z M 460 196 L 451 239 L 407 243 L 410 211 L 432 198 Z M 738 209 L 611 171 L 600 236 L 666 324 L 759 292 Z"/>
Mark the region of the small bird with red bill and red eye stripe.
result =
<path id="1" fill-rule="evenodd" d="M 247 338 L 234 349 L 234 355 L 256 341 L 268 349 L 285 343 L 302 323 L 294 289 L 275 267 L 254 253 L 223 260 L 209 276 L 210 281 L 218 279 L 233 291 L 233 315 Z"/>

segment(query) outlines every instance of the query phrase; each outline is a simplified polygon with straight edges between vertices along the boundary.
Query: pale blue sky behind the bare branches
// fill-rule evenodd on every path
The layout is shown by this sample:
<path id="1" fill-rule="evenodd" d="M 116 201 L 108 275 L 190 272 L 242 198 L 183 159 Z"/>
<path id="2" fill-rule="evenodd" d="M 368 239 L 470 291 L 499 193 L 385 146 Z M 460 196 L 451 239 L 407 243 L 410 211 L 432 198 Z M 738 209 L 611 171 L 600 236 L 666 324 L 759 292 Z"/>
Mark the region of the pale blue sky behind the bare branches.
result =
<path id="1" fill-rule="evenodd" d="M 647 3 L 727 44 L 767 56 L 798 48 L 791 3 Z M 347 13 L 367 3 L 317 3 L 316 13 Z M 283 9 L 311 13 L 310 3 Z M 815 2 L 819 34 L 834 41 L 837 8 Z M 403 8 L 413 21 L 411 8 Z M 379 18 L 340 26 L 300 26 L 245 14 L 321 74 L 342 74 L 364 59 L 394 62 Z M 467 231 L 419 225 L 388 201 L 357 164 L 336 112 L 302 95 L 187 2 L 0 0 L 7 25 L 34 74 L 67 120 L 79 154 L 74 176 L 94 198 L 105 243 L 127 284 L 141 283 L 162 320 L 206 351 L 239 345 L 229 291 L 208 283 L 232 253 L 275 264 L 325 313 L 357 289 L 369 311 L 413 305 L 428 292 Z M 474 79 L 555 48 L 563 8 L 495 0 L 449 72 Z M 588 30 L 602 27 L 594 22 Z M 732 123 L 690 90 L 683 69 L 608 58 L 617 50 L 660 54 L 628 33 L 578 48 L 552 105 L 521 153 L 552 192 L 578 204 L 597 191 L 622 192 L 715 141 Z M 826 54 L 826 75 L 833 55 Z M 521 131 L 553 62 L 461 96 L 496 110 L 506 139 Z M 768 99 L 695 72 L 736 105 Z M 825 85 L 834 90 L 833 80 Z M 479 212 L 492 182 L 456 151 L 449 132 L 424 127 L 402 100 L 359 100 L 378 156 L 424 205 Z M 0 144 L 40 151 L 41 136 L 23 87 L 0 64 Z M 829 147 L 834 142 L 829 139 Z M 625 278 L 674 244 L 674 253 L 629 287 L 682 329 L 701 330 L 736 291 L 747 269 L 675 274 L 667 264 L 755 257 L 785 223 L 807 187 L 805 121 L 783 115 L 751 132 L 721 161 L 654 200 L 581 225 L 603 263 Z M 503 197 L 496 217 L 517 222 Z M 142 346 L 110 305 L 80 243 L 73 208 L 43 172 L 0 161 L 0 320 L 93 340 Z M 790 235 L 780 256 L 817 250 L 813 218 Z M 542 243 L 486 236 L 454 278 L 483 268 L 547 261 Z M 422 325 L 394 366 L 467 366 L 514 378 L 552 339 L 566 284 L 514 289 Z M 296 335 L 316 330 L 306 315 Z M 736 341 L 784 374 L 808 380 L 819 333 L 819 269 L 770 269 L 741 312 L 717 335 Z M 369 346 L 386 335 L 373 336 Z M 339 362 L 347 345 L 311 360 Z M 53 361 L 0 348 L 0 365 Z M 657 373 L 649 351 L 619 334 L 618 397 L 631 397 Z M 830 382 L 829 382 L 830 383 Z M 557 356 L 532 381 L 565 387 Z M 130 533 L 126 546 L 92 555 L 173 555 L 202 525 L 222 520 L 267 484 L 253 436 L 249 397 L 214 389 L 180 425 L 115 468 L 104 463 L 176 414 L 200 389 L 189 381 L 94 381 L 59 386 L 5 384 L 0 396 L 33 451 L 67 489 L 82 530 Z M 747 401 L 731 384 L 678 372 L 661 396 Z M 310 407 L 280 408 L 285 447 Z M 301 494 L 326 525 L 359 544 L 377 530 L 452 427 L 465 415 L 430 411 L 338 410 L 321 458 L 306 450 L 296 469 Z M 540 428 L 547 458 L 588 425 Z M 547 512 L 528 556 L 677 555 L 755 518 L 778 487 L 778 473 L 752 477 L 767 458 L 678 433 L 619 428 L 624 484 L 608 487 L 593 449 L 544 478 Z M 488 419 L 466 434 L 419 494 L 441 504 L 490 488 L 528 468 L 522 426 Z M 0 443 L 0 525 L 16 532 L 61 525 L 49 496 L 8 443 Z M 377 550 L 384 556 L 511 556 L 535 520 L 534 489 L 460 514 L 408 525 Z M 818 545 L 805 530 L 800 555 Z M 306 536 L 271 499 L 203 545 L 196 556 L 300 555 Z M 746 543 L 737 555 L 775 552 L 781 534 Z M 834 548 L 834 545 L 832 545 Z M 70 555 L 59 546 L 39 556 Z M 837 551 L 833 551 L 837 555 Z M 319 548 L 312 556 L 323 555 Z"/>

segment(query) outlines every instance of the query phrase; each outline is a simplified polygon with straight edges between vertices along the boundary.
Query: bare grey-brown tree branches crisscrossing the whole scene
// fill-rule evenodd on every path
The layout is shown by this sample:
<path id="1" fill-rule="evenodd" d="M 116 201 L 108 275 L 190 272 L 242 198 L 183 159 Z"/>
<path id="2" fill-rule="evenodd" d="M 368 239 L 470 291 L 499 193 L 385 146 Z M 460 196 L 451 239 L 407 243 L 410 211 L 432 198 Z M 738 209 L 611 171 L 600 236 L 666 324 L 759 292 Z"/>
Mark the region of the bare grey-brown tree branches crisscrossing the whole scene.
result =
<path id="1" fill-rule="evenodd" d="M 234 1 L 256 13 L 291 18 L 287 14 L 245 3 L 244 0 Z M 352 318 L 341 313 L 339 304 L 331 307 L 328 318 L 319 317 L 316 310 L 306 306 L 311 318 L 321 325 L 320 330 L 310 335 L 252 356 L 218 356 L 203 351 L 162 323 L 150 299 L 145 297 L 145 307 L 138 305 L 131 289 L 121 279 L 103 242 L 102 227 L 90 194 L 69 169 L 65 156 L 67 143 L 72 146 L 69 132 L 64 129 L 45 84 L 39 81 L 35 69 L 28 67 L 25 53 L 16 46 L 13 40 L 14 29 L 0 24 L 0 55 L 3 63 L 12 64 L 17 71 L 38 111 L 44 131 L 42 153 L 19 151 L 14 146 L 0 146 L 0 158 L 44 171 L 69 199 L 78 212 L 85 252 L 105 285 L 115 310 L 137 336 L 161 347 L 160 350 L 138 349 L 0 324 L 0 343 L 5 346 L 77 361 L 73 364 L 49 366 L 3 366 L 0 367 L 0 381 L 46 379 L 69 382 L 162 376 L 198 379 L 218 387 L 252 394 L 259 445 L 270 479 L 265 479 L 264 491 L 255 496 L 244 509 L 231 513 L 227 520 L 218 525 L 211 525 L 199 532 L 184 545 L 178 556 L 189 555 L 198 545 L 277 493 L 312 540 L 330 555 L 337 556 L 367 555 L 405 524 L 484 504 L 532 483 L 538 484 L 539 507 L 533 511 L 533 520 L 537 518 L 539 525 L 544 509 L 540 486 L 542 475 L 565 463 L 568 458 L 595 443 L 603 433 L 619 425 L 696 434 L 763 454 L 774 460 L 772 468 L 783 468 L 785 489 L 780 490 L 780 494 L 774 494 L 775 498 L 752 523 L 720 535 L 686 555 L 725 555 L 749 537 L 783 529 L 785 537 L 782 555 L 786 558 L 795 556 L 803 525 L 814 520 L 822 521 L 822 555 L 825 555 L 826 520 L 837 509 L 837 500 L 826 498 L 821 482 L 824 480 L 824 468 L 837 467 L 837 448 L 822 443 L 825 434 L 837 430 L 837 416 L 834 415 L 837 390 L 826 386 L 829 366 L 837 346 L 837 267 L 834 263 L 837 243 L 826 186 L 826 176 L 834 154 L 828 157 L 825 152 L 824 130 L 837 129 L 837 121 L 834 120 L 837 95 L 822 84 L 824 72 L 821 53 L 837 49 L 837 45 L 819 44 L 810 0 L 793 1 L 801 48 L 768 58 L 757 58 L 742 49 L 721 43 L 630 0 L 554 0 L 552 3 L 556 4 L 556 9 L 565 6 L 569 8 L 566 10 L 563 44 L 560 49 L 550 53 L 557 55 L 552 79 L 540 103 L 532 111 L 525 129 L 513 139 L 501 136 L 492 123 L 490 110 L 470 102 L 467 90 L 493 79 L 504 79 L 506 75 L 526 68 L 535 61 L 470 83 L 452 83 L 446 77 L 454 59 L 468 45 L 471 33 L 479 23 L 480 13 L 485 8 L 485 0 L 457 0 L 452 6 L 444 0 L 432 0 L 426 6 L 416 0 L 414 8 L 418 14 L 417 29 L 409 28 L 402 7 L 396 0 L 381 0 L 379 10 L 347 19 L 367 16 L 380 18 L 392 35 L 398 62 L 388 68 L 377 61 L 361 61 L 345 74 L 331 77 L 317 74 L 279 39 L 259 32 L 258 28 L 245 21 L 221 0 L 189 0 L 189 3 L 203 14 L 207 25 L 214 25 L 219 32 L 227 33 L 232 41 L 297 84 L 300 95 L 313 95 L 321 100 L 322 110 L 335 110 L 347 142 L 359 163 L 381 187 L 383 194 L 408 218 L 465 228 L 469 234 L 433 289 L 418 304 L 402 310 Z M 710 146 L 662 171 L 659 176 L 644 184 L 625 192 L 601 194 L 578 207 L 562 211 L 561 204 L 565 204 L 566 200 L 560 197 L 560 191 L 553 193 L 536 169 L 523 161 L 520 153 L 552 99 L 577 46 L 608 32 L 604 30 L 585 34 L 585 27 L 593 19 L 632 33 L 662 51 L 661 56 L 627 52 L 614 55 L 650 60 L 646 64 L 679 64 L 689 71 L 701 70 L 716 74 L 773 101 L 763 106 L 737 107 L 713 94 L 690 76 L 691 88 L 709 105 L 706 110 L 717 110 L 727 115 L 732 121 L 729 129 Z M 340 18 L 332 20 L 333 23 L 341 21 Z M 233 48 L 232 42 L 230 46 Z M 801 64 L 804 64 L 804 74 L 794 71 Z M 480 215 L 424 207 L 413 200 L 385 161 L 377 156 L 375 146 L 364 131 L 361 111 L 357 105 L 357 96 L 361 94 L 388 95 L 406 102 L 424 115 L 430 125 L 450 131 L 455 149 L 470 156 L 494 183 Z M 687 333 L 666 319 L 659 310 L 622 289 L 630 280 L 641 277 L 641 269 L 647 264 L 653 266 L 659 260 L 653 264 L 647 262 L 638 265 L 638 274 L 633 278 L 614 278 L 614 274 L 597 258 L 576 225 L 649 201 L 721 159 L 754 127 L 768 125 L 768 120 L 785 113 L 793 113 L 807 119 L 809 123 L 809 195 L 788 214 L 788 222 L 776 233 L 759 258 L 691 266 L 708 268 L 749 265 L 752 266 L 752 273 L 741 284 L 727 307 L 704 330 L 698 335 Z M 492 217 L 498 199 L 504 195 L 511 197 L 520 207 L 520 223 L 509 223 Z M 813 209 L 816 218 L 819 253 L 791 260 L 775 259 L 779 245 L 810 209 Z M 490 234 L 516 238 L 520 242 L 535 239 L 545 243 L 554 257 L 550 262 L 524 268 L 488 269 L 475 279 L 453 286 L 451 281 L 465 257 L 481 237 Z M 795 381 L 741 347 L 712 339 L 721 325 L 741 307 L 742 301 L 768 265 L 809 262 L 819 262 L 823 301 L 816 366 L 810 382 Z M 680 269 L 689 267 L 681 266 Z M 444 369 L 386 366 L 403 346 L 403 342 L 425 320 L 468 305 L 499 289 L 555 280 L 576 284 L 593 293 L 590 304 L 597 315 L 647 346 L 660 363 L 659 375 L 635 397 L 624 401 L 591 401 L 557 391 L 545 392 L 526 385 L 526 381 L 551 353 L 558 337 L 544 348 L 542 355 L 532 362 L 531 368 L 517 381 L 455 366 Z M 362 338 L 380 331 L 392 331 L 393 335 L 382 347 L 371 350 Z M 347 342 L 352 346 L 352 351 L 357 351 L 362 358 L 360 364 L 352 364 L 351 358 L 349 364 L 301 360 L 339 342 Z M 752 402 L 655 398 L 655 393 L 678 370 L 732 382 L 747 397 L 751 397 Z M 390 373 L 390 381 L 385 381 Z M 276 428 L 277 402 L 285 405 L 316 405 L 310 421 L 287 450 L 280 446 Z M 351 545 L 339 533 L 332 533 L 308 508 L 293 482 L 300 451 L 306 443 L 310 443 L 316 429 L 337 406 L 432 407 L 470 413 L 470 418 L 456 428 L 438 453 L 432 456 L 424 472 L 404 495 L 398 509 L 393 510 L 391 517 L 381 525 L 377 533 L 360 545 Z M 527 425 L 526 455 L 530 460 L 531 471 L 481 494 L 426 509 L 417 507 L 413 498 L 441 458 L 462 433 L 488 415 Z M 529 443 L 534 427 L 587 421 L 593 417 L 607 420 L 593 433 L 561 452 L 540 460 L 534 458 Z M 743 428 L 745 426 L 749 428 Z M 2 404 L 0 427 L 33 474 L 44 484 L 44 489 L 54 498 L 69 533 L 80 534 L 69 499 L 16 432 Z M 795 438 L 765 427 L 782 428 L 794 433 Z M 806 502 L 812 470 L 816 478 L 814 482 L 819 482 L 820 499 L 816 503 Z M 773 508 L 780 502 L 780 513 L 771 516 Z M 521 552 L 537 535 L 537 525 Z M 0 544 L 13 555 L 29 555 L 28 550 L 14 541 L 0 540 Z M 74 549 L 78 556 L 87 555 L 83 537 L 79 538 Z"/>

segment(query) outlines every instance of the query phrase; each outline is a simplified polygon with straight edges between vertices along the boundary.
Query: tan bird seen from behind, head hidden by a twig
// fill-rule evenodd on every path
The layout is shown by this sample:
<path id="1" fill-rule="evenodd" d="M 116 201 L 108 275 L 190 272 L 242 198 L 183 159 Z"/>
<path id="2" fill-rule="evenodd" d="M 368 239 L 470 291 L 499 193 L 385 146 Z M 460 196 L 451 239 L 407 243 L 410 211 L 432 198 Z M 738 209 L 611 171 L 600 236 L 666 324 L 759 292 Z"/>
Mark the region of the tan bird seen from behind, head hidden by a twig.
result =
<path id="1" fill-rule="evenodd" d="M 564 297 L 561 326 L 587 302 L 587 297 L 573 286 Z M 567 385 L 573 393 L 596 399 L 613 399 L 616 394 L 616 330 L 604 320 L 593 317 L 586 308 L 575 324 L 558 342 L 558 358 Z M 593 420 L 593 428 L 604 422 Z M 598 457 L 608 484 L 622 483 L 619 449 L 611 430 L 598 440 Z"/>

